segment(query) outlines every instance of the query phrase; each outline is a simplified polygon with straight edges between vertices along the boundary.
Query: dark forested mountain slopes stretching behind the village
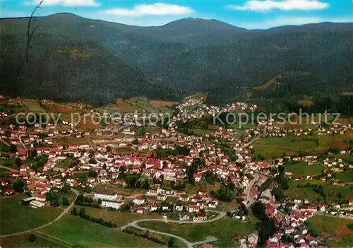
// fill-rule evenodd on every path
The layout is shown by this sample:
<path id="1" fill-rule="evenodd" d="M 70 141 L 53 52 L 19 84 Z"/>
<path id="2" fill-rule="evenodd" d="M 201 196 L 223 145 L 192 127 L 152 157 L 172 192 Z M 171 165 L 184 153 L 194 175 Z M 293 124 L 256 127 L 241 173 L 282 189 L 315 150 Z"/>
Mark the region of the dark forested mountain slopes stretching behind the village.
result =
<path id="1" fill-rule="evenodd" d="M 203 91 L 225 103 L 337 100 L 353 91 L 352 23 L 245 30 L 186 18 L 142 28 L 68 13 L 38 23 L 25 62 L 28 18 L 1 19 L 4 94 L 102 104 Z M 254 90 L 279 74 L 279 83 Z"/>

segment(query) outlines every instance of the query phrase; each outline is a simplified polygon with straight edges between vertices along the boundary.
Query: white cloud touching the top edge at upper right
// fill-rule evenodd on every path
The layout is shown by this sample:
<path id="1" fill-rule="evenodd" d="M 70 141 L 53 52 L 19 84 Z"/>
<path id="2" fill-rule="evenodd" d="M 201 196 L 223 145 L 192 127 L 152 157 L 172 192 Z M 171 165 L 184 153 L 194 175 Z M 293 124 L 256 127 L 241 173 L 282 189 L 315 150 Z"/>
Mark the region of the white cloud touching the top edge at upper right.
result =
<path id="1" fill-rule="evenodd" d="M 323 3 L 318 0 L 285 0 L 285 1 L 273 1 L 273 0 L 251 0 L 246 1 L 243 6 L 229 5 L 227 8 L 234 9 L 237 11 L 272 11 L 273 9 L 279 9 L 281 11 L 313 11 L 328 8 L 329 4 Z"/>

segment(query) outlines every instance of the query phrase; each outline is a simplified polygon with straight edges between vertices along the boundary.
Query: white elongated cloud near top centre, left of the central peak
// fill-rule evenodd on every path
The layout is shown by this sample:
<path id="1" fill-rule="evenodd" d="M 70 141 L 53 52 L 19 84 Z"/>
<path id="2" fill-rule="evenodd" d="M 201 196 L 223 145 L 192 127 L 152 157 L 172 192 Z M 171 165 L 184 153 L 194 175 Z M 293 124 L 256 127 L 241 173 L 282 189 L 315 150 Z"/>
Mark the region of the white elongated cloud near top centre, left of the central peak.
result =
<path id="1" fill-rule="evenodd" d="M 102 13 L 115 16 L 178 16 L 194 12 L 187 6 L 163 3 L 139 4 L 133 8 L 112 8 L 102 11 Z"/>

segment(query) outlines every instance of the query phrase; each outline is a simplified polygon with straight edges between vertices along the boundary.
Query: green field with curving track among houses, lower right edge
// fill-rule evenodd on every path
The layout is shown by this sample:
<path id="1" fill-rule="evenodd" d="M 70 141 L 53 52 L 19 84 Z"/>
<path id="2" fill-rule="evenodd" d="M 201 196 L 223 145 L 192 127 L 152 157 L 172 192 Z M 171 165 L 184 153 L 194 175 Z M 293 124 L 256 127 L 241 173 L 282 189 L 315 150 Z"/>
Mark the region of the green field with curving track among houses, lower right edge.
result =
<path id="1" fill-rule="evenodd" d="M 328 203 L 333 203 L 337 200 L 337 194 L 340 193 L 345 199 L 353 199 L 353 187 L 343 187 L 330 184 L 330 182 L 301 179 L 299 181 L 289 181 L 289 189 L 284 191 L 284 194 L 289 197 L 299 196 L 302 199 L 309 199 L 311 203 L 324 203 L 324 199 L 311 187 L 297 187 L 298 184 L 306 183 L 322 185 L 323 191 Z"/>

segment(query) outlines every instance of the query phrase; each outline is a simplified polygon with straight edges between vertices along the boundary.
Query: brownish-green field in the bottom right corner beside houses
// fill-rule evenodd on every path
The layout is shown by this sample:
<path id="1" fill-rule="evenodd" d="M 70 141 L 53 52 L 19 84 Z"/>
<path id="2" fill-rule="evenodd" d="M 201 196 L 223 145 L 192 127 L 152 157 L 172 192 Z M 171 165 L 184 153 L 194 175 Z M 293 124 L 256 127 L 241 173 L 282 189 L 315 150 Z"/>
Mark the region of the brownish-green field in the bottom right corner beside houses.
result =
<path id="1" fill-rule="evenodd" d="M 351 247 L 353 230 L 347 228 L 349 224 L 353 224 L 353 220 L 315 215 L 310 219 L 308 228 L 315 230 L 319 235 L 329 237 L 330 247 Z"/>

